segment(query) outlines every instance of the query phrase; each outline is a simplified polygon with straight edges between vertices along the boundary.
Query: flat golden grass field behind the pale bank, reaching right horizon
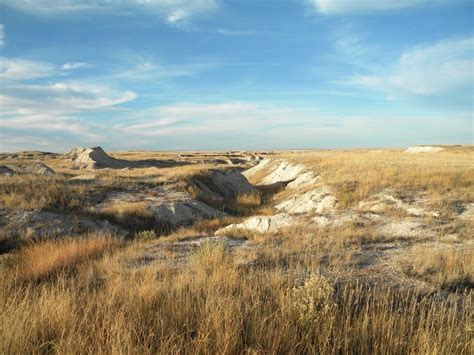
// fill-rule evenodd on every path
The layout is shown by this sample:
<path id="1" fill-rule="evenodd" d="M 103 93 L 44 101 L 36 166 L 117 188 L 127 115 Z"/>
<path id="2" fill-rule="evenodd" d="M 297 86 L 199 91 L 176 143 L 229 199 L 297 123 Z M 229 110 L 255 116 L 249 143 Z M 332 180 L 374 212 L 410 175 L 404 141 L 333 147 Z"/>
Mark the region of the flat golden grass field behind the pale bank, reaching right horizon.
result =
<path id="1" fill-rule="evenodd" d="M 396 150 L 320 151 L 283 154 L 304 164 L 332 187 L 341 208 L 390 188 L 402 199 L 427 197 L 444 214 L 474 201 L 474 148 L 407 154 Z"/>

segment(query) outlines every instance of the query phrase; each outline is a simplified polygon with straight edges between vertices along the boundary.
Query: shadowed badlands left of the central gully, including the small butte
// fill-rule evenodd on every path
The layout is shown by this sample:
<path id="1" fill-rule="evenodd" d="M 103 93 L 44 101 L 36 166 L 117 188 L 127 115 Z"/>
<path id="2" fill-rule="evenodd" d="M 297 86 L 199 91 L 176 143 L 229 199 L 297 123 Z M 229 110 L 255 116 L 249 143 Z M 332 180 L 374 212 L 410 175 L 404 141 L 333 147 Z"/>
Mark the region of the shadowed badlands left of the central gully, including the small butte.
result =
<path id="1" fill-rule="evenodd" d="M 263 153 L 265 154 L 265 153 Z M 24 158 L 24 157 L 27 158 Z M 4 162 L 8 165 L 0 166 L 0 173 L 6 177 L 18 176 L 29 179 L 33 176 L 52 177 L 55 171 L 47 165 L 35 161 L 42 157 L 41 153 L 35 154 L 9 154 L 4 156 Z M 33 161 L 28 162 L 28 159 Z M 235 199 L 235 196 L 257 193 L 257 189 L 250 184 L 236 167 L 245 163 L 256 163 L 260 156 L 254 153 L 233 152 L 225 154 L 188 154 L 161 156 L 160 159 L 120 159 L 109 156 L 100 147 L 75 148 L 65 155 L 52 155 L 53 162 L 65 163 L 70 172 L 58 176 L 61 184 L 67 185 L 89 185 L 92 189 L 90 196 L 85 199 L 87 206 L 80 206 L 82 213 L 74 209 L 55 206 L 48 209 L 1 209 L 0 223 L 3 224 L 3 232 L 13 233 L 13 239 L 18 235 L 25 234 L 33 238 L 61 237 L 72 233 L 103 232 L 115 234 L 122 237 L 130 237 L 131 231 L 126 223 L 120 223 L 122 216 L 115 209 L 120 206 L 140 206 L 145 209 L 147 225 L 151 229 L 169 230 L 180 225 L 189 225 L 196 220 L 212 219 L 226 216 L 227 212 L 221 208 L 225 201 Z M 237 165 L 234 165 L 236 162 Z M 209 169 L 209 167 L 221 164 L 230 166 L 227 170 Z M 96 174 L 87 171 L 101 171 L 102 174 L 112 173 L 115 170 L 122 171 L 125 175 L 130 169 L 140 171 L 148 169 L 153 172 L 159 169 L 173 169 L 179 167 L 193 168 L 196 170 L 206 167 L 205 173 L 186 176 L 185 181 L 176 181 L 171 178 L 153 187 L 111 187 L 103 186 L 104 181 Z M 82 173 L 82 171 L 86 173 Z M 13 180 L 6 180 L 12 181 Z M 54 180 L 44 181 L 51 184 Z M 153 185 L 153 184 L 152 184 Z M 41 188 L 38 186 L 38 188 Z M 95 191 L 93 191 L 95 190 Z M 196 197 L 199 198 L 196 198 Z M 27 198 L 27 197 L 25 197 Z M 20 204 L 21 205 L 21 204 Z M 119 206 L 119 207 L 117 207 Z M 61 207 L 61 208 L 57 208 Z M 115 215 L 108 211 L 117 212 Z M 86 212 L 86 213 L 84 213 Z M 138 218 L 139 219 L 139 218 Z M 139 223 L 140 224 L 140 223 Z M 12 236 L 10 236 L 12 237 Z M 8 248 L 11 243 L 10 237 L 4 237 Z M 0 240 L 1 241 L 1 240 Z M 0 245 L 0 249 L 2 246 Z"/>

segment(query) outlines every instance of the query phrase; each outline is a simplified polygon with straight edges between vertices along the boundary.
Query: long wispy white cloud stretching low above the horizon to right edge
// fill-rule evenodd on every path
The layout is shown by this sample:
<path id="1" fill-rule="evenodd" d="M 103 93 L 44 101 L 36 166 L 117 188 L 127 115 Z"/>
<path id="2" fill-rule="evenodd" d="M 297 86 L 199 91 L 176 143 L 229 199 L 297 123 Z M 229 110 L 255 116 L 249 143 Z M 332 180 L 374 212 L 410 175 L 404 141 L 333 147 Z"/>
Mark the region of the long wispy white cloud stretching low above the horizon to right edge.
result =
<path id="1" fill-rule="evenodd" d="M 111 127 L 113 135 L 133 142 L 136 147 L 167 149 L 344 147 L 367 146 L 369 141 L 372 145 L 394 146 L 416 141 L 416 133 L 410 135 L 407 129 L 417 132 L 427 124 L 441 130 L 449 128 L 451 133 L 461 134 L 466 139 L 470 122 L 465 117 L 457 117 L 453 123 L 452 117 L 417 114 L 410 117 L 338 116 L 314 107 L 245 101 L 177 102 L 127 116 L 126 121 Z M 386 139 L 388 136 L 394 137 L 393 140 Z M 417 142 L 429 143 L 435 136 L 436 132 L 426 133 L 423 140 Z M 374 137 L 380 137 L 377 143 Z M 452 139 L 446 135 L 443 142 L 449 143 Z"/>

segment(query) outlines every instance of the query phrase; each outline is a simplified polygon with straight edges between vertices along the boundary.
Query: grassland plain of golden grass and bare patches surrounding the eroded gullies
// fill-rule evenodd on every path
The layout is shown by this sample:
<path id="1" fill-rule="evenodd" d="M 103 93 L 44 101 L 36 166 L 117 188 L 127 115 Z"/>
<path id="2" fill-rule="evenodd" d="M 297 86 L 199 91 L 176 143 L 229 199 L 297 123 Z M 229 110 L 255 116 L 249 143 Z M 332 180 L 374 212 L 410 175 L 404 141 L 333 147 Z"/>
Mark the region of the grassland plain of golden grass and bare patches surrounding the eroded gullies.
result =
<path id="1" fill-rule="evenodd" d="M 0 181 L 9 245 L 0 270 L 2 353 L 472 351 L 472 147 L 276 152 L 268 166 L 297 165 L 298 175 L 311 172 L 317 182 L 296 190 L 285 188 L 288 181 L 261 184 L 269 174 L 262 169 L 249 177 L 257 192 L 223 201 L 216 218 L 168 229 L 155 228 L 149 208 L 157 191 L 189 192 L 194 176 L 227 167 L 203 161 L 84 172 L 62 156 L 35 159 L 56 174 Z M 294 223 L 277 230 L 214 236 L 252 216 L 281 214 L 282 201 L 314 189 L 334 204 L 322 210 L 310 200 L 313 210 L 285 211 Z M 140 200 L 107 199 L 117 193 Z M 105 218 L 123 233 L 39 237 L 36 225 L 8 223 L 45 211 Z"/>

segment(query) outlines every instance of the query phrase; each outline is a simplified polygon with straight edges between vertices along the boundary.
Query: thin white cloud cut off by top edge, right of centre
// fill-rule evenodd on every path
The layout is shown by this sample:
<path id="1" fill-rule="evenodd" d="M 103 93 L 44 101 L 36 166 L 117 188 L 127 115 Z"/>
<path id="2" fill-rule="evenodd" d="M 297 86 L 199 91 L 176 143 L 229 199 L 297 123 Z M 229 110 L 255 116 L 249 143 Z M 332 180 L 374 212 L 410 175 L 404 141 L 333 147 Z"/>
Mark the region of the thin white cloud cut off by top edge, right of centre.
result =
<path id="1" fill-rule="evenodd" d="M 326 15 L 395 10 L 416 6 L 423 2 L 427 0 L 309 0 L 316 11 Z"/>

